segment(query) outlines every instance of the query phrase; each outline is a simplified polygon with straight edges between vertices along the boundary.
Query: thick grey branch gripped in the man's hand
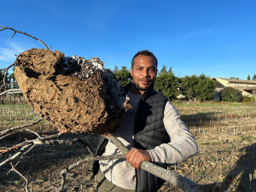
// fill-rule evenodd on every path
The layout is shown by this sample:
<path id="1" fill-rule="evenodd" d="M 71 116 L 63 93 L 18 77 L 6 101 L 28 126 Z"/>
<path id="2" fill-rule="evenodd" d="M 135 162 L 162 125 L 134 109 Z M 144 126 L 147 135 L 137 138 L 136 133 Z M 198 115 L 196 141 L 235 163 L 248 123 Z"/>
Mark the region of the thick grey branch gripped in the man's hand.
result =
<path id="1" fill-rule="evenodd" d="M 116 137 L 106 136 L 108 141 L 113 143 L 119 150 L 126 154 L 129 150 L 121 143 Z M 183 189 L 188 192 L 201 192 L 201 191 L 221 191 L 221 186 L 218 183 L 210 183 L 206 185 L 199 185 L 187 177 L 182 177 L 175 172 L 168 171 L 160 166 L 155 166 L 153 163 L 148 161 L 143 161 L 141 168 L 147 172 L 160 177 L 167 182 L 172 183 L 177 186 L 177 188 Z"/>

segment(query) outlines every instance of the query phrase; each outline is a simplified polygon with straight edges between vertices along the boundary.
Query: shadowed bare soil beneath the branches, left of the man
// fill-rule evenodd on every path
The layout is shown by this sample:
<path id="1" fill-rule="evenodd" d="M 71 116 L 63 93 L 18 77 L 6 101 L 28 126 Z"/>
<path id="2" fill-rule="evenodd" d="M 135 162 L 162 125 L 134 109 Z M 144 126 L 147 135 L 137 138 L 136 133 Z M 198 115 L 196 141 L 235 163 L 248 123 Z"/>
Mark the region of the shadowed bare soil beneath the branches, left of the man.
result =
<path id="1" fill-rule="evenodd" d="M 79 135 L 80 137 L 83 134 Z M 73 138 L 74 134 L 67 133 L 60 138 Z M 87 143 L 92 148 L 96 147 L 98 136 L 87 135 Z M 32 191 L 55 191 L 61 184 L 59 173 L 78 160 L 82 160 L 88 151 L 82 144 L 69 145 L 46 145 L 38 146 L 25 155 L 22 159 L 13 162 L 19 163 L 15 166 L 27 179 Z M 92 163 L 83 164 L 78 169 L 67 173 L 67 183 L 64 191 L 95 191 L 94 180 L 91 179 Z M 7 166 L 0 170 L 0 191 L 25 191 L 25 181 L 15 172 L 9 172 L 11 167 Z"/>

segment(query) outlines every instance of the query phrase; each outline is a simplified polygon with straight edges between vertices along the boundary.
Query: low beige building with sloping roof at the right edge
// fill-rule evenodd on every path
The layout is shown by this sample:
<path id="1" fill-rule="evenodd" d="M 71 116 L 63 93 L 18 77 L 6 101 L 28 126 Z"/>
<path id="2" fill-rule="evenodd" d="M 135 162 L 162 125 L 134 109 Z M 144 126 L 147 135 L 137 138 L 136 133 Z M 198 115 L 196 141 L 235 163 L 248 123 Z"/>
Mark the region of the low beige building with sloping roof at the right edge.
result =
<path id="1" fill-rule="evenodd" d="M 217 91 L 223 90 L 224 87 L 232 87 L 241 90 L 242 96 L 256 96 L 256 81 L 241 79 L 224 79 L 216 78 Z"/>

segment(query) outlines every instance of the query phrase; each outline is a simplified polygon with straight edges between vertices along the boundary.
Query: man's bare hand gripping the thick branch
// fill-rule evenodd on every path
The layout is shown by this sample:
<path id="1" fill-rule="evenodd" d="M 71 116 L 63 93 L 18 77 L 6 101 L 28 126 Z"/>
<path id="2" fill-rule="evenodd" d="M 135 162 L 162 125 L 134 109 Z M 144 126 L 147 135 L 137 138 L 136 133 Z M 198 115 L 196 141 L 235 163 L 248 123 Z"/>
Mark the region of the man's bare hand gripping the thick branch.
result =
<path id="1" fill-rule="evenodd" d="M 144 160 L 151 161 L 151 156 L 148 151 L 139 148 L 131 148 L 126 154 L 126 160 L 136 169 L 139 169 Z"/>

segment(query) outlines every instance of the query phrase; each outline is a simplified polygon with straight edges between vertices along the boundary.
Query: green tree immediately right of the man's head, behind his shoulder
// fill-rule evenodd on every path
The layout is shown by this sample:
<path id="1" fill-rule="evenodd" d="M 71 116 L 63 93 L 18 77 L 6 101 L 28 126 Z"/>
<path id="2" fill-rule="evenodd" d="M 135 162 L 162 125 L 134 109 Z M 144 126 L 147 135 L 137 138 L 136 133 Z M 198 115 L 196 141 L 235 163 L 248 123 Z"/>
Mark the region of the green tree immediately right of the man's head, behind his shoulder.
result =
<path id="1" fill-rule="evenodd" d="M 160 94 L 168 97 L 169 100 L 174 100 L 181 94 L 179 90 L 179 79 L 172 73 L 172 67 L 166 71 L 166 66 L 163 66 L 155 79 L 154 89 Z"/>

